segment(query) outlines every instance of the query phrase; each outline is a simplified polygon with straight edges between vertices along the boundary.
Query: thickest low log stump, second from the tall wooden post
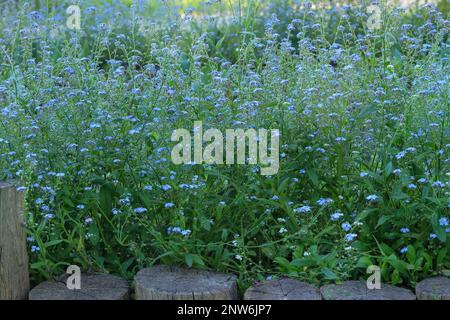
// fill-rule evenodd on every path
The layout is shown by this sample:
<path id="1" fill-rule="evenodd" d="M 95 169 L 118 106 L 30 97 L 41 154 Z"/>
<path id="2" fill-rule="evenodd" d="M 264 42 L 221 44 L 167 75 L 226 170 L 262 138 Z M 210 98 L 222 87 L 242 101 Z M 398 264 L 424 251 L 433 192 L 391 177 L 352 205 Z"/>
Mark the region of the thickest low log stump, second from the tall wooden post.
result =
<path id="1" fill-rule="evenodd" d="M 154 266 L 134 278 L 136 300 L 235 300 L 236 276 L 176 266 Z"/>

